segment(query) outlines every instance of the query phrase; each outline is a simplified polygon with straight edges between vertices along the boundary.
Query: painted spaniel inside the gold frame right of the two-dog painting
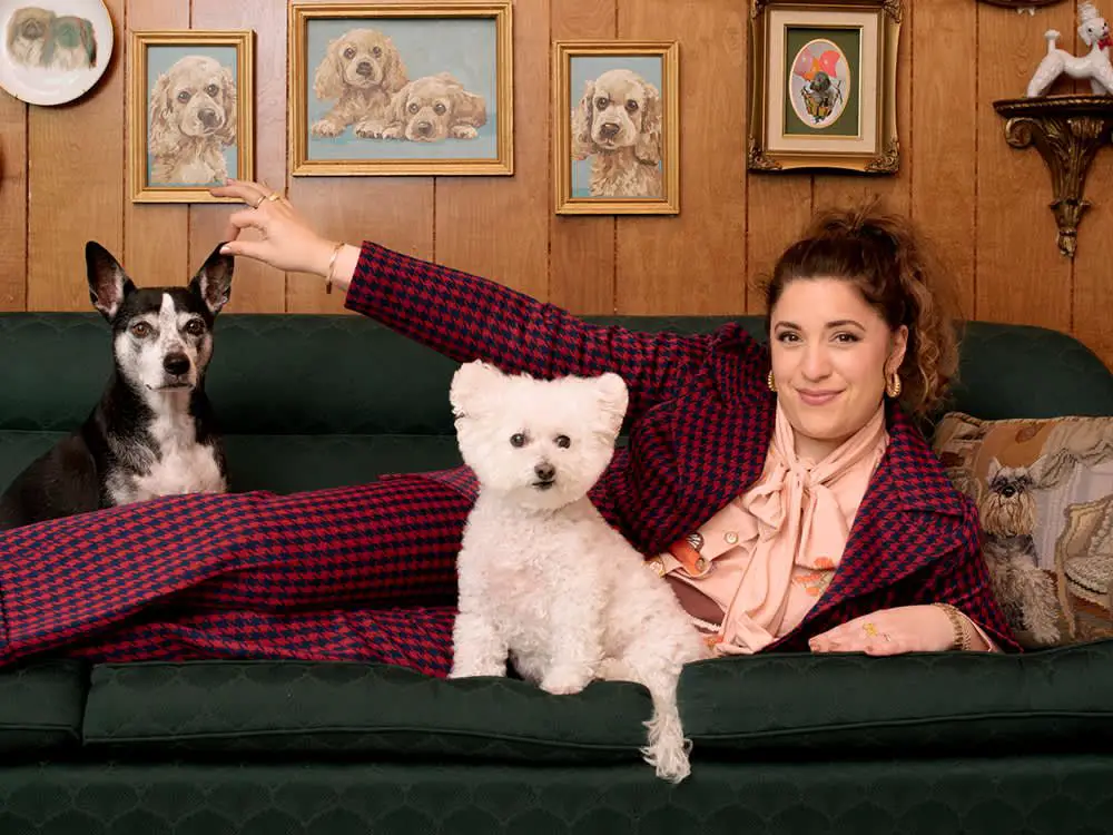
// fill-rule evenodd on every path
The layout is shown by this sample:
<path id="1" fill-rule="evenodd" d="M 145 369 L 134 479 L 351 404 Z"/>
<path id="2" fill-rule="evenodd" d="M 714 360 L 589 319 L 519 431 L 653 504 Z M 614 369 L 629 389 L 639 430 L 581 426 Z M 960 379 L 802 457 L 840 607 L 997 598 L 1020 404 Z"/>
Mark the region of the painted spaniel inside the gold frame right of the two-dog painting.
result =
<path id="1" fill-rule="evenodd" d="M 572 111 L 572 158 L 591 157 L 592 197 L 661 196 L 661 94 L 637 72 L 608 70 Z"/>

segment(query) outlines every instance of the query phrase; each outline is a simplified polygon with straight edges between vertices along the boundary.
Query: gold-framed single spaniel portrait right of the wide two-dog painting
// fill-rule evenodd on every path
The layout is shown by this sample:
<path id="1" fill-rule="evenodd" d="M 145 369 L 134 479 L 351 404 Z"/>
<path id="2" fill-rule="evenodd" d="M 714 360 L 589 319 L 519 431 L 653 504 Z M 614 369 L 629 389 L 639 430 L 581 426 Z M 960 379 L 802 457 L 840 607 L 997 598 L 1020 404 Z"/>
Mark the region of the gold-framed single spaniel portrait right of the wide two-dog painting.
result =
<path id="1" fill-rule="evenodd" d="M 680 212 L 676 41 L 556 41 L 559 215 Z"/>

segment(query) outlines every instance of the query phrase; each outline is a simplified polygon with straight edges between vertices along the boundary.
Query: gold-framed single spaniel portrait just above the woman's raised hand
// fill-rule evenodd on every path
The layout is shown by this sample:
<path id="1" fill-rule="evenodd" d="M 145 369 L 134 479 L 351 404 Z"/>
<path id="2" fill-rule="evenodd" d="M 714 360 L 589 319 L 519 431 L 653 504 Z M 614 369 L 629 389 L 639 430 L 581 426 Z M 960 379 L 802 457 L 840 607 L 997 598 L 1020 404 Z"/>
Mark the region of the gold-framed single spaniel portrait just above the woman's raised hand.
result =
<path id="1" fill-rule="evenodd" d="M 136 31 L 128 53 L 134 203 L 227 203 L 255 178 L 250 31 Z"/>

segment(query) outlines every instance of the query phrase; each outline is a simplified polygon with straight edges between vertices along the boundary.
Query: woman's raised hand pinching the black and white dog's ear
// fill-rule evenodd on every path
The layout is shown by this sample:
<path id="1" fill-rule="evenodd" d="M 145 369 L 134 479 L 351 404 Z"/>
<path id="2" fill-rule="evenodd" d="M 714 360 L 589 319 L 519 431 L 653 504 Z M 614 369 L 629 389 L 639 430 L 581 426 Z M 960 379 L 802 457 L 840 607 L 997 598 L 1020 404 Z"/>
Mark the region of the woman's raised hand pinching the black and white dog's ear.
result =
<path id="1" fill-rule="evenodd" d="M 214 197 L 236 197 L 247 208 L 228 218 L 221 252 L 245 255 L 290 273 L 328 273 L 336 243 L 317 235 L 280 193 L 246 180 L 230 179 L 209 190 Z M 259 240 L 238 240 L 243 229 L 257 229 Z"/>

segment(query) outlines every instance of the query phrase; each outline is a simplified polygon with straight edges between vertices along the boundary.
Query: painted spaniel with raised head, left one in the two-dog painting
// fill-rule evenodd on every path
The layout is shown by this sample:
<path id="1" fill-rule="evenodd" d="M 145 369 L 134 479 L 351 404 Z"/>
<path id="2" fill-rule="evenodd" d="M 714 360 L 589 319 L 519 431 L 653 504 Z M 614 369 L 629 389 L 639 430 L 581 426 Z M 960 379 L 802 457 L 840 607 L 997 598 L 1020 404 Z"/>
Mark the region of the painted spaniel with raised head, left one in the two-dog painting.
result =
<path id="1" fill-rule="evenodd" d="M 334 137 L 355 125 L 355 135 L 378 139 L 387 121 L 391 97 L 408 82 L 402 55 L 377 29 L 351 29 L 329 41 L 317 65 L 313 92 L 323 101 L 336 100 L 309 132 Z"/>

